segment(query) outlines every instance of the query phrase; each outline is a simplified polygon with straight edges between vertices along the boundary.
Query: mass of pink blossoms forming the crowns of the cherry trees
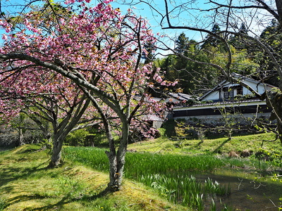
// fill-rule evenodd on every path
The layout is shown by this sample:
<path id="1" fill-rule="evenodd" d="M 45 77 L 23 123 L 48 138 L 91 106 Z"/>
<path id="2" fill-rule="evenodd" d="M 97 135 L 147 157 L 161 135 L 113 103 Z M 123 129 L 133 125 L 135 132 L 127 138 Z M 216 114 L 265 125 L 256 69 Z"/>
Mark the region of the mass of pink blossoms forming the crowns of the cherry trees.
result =
<path id="1" fill-rule="evenodd" d="M 147 21 L 130 10 L 121 15 L 118 8 L 111 7 L 111 1 L 93 8 L 85 5 L 89 0 L 66 0 L 65 4 L 75 2 L 81 3 L 80 11 L 67 8 L 67 14 L 51 13 L 46 20 L 34 11 L 25 14 L 17 32 L 11 30 L 12 23 L 0 20 L 0 26 L 6 30 L 0 53 L 24 53 L 79 75 L 121 107 L 127 108 L 128 102 L 132 108 L 137 106 L 139 114 L 142 110 L 147 113 L 164 110 L 157 106 L 159 102 L 142 101 L 140 106 L 140 102 L 133 101 L 133 96 L 147 94 L 142 92 L 152 87 L 153 81 L 171 85 L 152 64 L 140 63 L 142 55 L 148 53 L 144 46 L 156 42 Z M 63 112 L 67 112 L 64 108 L 70 102 L 82 96 L 71 79 L 29 60 L 2 61 L 0 74 L 0 86 L 7 92 L 37 99 L 51 95 Z"/>

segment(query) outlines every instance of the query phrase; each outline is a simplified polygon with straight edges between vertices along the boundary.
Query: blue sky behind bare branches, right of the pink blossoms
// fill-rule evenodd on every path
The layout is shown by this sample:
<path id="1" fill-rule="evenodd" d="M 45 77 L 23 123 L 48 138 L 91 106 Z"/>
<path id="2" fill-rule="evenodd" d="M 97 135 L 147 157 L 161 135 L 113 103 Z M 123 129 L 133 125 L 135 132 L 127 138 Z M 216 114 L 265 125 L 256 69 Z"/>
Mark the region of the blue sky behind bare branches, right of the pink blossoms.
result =
<path id="1" fill-rule="evenodd" d="M 93 1 L 93 0 L 92 0 Z M 126 1 L 131 1 L 131 2 L 140 2 L 139 0 L 126 0 Z M 159 13 L 164 14 L 165 13 L 165 6 L 164 6 L 164 1 L 163 0 L 145 0 L 149 1 L 152 5 L 154 5 L 154 8 L 157 9 Z M 187 3 L 190 0 L 170 0 L 168 1 L 168 8 L 172 9 L 174 8 L 173 6 L 179 6 L 181 4 Z M 194 4 L 189 4 L 190 8 L 185 8 L 183 6 L 179 11 L 175 11 L 171 15 L 171 23 L 174 25 L 178 26 L 192 26 L 192 27 L 200 27 L 204 28 L 205 30 L 212 30 L 212 27 L 214 26 L 214 23 L 221 23 L 221 17 L 214 15 L 214 11 L 207 11 L 210 8 L 214 8 L 214 5 L 212 4 L 207 4 L 208 0 L 198 0 L 194 1 Z M 271 0 L 265 0 L 267 4 L 270 4 Z M 203 34 L 200 32 L 195 32 L 192 30 L 176 30 L 176 29 L 171 29 L 171 30 L 162 30 L 161 26 L 159 25 L 160 20 L 161 20 L 161 15 L 159 15 L 156 11 L 153 11 L 152 8 L 150 8 L 147 4 L 145 3 L 139 3 L 135 5 L 124 5 L 124 4 L 118 4 L 118 2 L 121 2 L 121 0 L 116 0 L 115 2 L 111 3 L 112 6 L 114 7 L 119 7 L 121 8 L 121 11 L 126 11 L 128 7 L 132 8 L 133 11 L 137 15 L 141 15 L 143 18 L 147 18 L 149 20 L 150 25 L 152 25 L 152 29 L 155 33 L 161 32 L 164 34 L 168 34 L 169 37 L 172 39 L 176 40 L 178 35 L 181 32 L 184 32 L 186 37 L 189 39 L 194 39 L 196 41 L 202 41 L 204 37 L 207 36 L 207 34 Z M 154 4 L 154 2 L 157 2 Z M 228 5 L 228 0 L 216 0 L 217 3 L 221 4 L 227 4 Z M 242 1 L 242 0 L 233 0 L 231 1 L 233 5 L 235 6 L 243 6 L 245 4 L 252 4 L 252 1 Z M 193 9 L 191 9 L 193 8 Z M 266 11 L 256 11 L 256 9 L 249 10 L 248 12 L 250 13 L 240 13 L 241 11 L 238 11 L 236 15 L 231 15 L 233 20 L 231 18 L 229 21 L 233 21 L 233 23 L 229 23 L 230 25 L 237 25 L 239 28 L 241 23 L 246 22 L 245 24 L 247 27 L 250 27 L 250 30 L 254 33 L 249 35 L 251 36 L 259 36 L 262 32 L 262 30 L 265 29 L 265 27 L 270 23 L 271 20 L 271 15 L 270 18 L 268 17 L 268 13 Z M 226 9 L 226 13 L 228 13 Z M 251 14 L 254 14 L 252 16 Z M 180 15 L 178 15 L 180 14 Z M 225 24 L 226 20 L 223 21 L 223 24 Z M 164 27 L 167 25 L 164 24 Z M 225 30 L 224 27 L 221 27 L 221 30 Z M 232 30 L 231 28 L 228 28 L 228 30 Z M 174 42 L 171 42 L 169 46 L 172 47 Z"/>

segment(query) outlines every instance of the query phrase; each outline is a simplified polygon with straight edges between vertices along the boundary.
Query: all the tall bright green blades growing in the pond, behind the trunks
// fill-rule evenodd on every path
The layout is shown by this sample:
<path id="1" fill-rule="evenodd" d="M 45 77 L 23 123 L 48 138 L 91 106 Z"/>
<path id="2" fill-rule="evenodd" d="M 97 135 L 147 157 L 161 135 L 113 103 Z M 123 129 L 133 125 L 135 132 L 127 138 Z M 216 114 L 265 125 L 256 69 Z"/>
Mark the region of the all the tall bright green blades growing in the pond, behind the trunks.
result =
<path id="1" fill-rule="evenodd" d="M 68 147 L 64 151 L 68 159 L 104 172 L 109 170 L 104 149 Z M 127 153 L 125 177 L 152 186 L 173 203 L 203 210 L 207 196 L 228 195 L 230 190 L 210 179 L 201 184 L 191 172 L 212 172 L 223 165 L 224 162 L 213 155 Z"/>

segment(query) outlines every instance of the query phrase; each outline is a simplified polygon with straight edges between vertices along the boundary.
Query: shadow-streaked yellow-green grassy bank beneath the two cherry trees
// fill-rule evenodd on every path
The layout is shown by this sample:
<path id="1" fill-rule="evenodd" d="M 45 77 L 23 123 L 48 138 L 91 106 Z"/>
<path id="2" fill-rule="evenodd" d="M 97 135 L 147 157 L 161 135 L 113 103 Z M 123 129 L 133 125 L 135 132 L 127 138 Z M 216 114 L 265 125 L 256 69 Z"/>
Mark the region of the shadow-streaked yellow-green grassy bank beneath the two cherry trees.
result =
<path id="1" fill-rule="evenodd" d="M 38 149 L 26 145 L 0 152 L 0 210 L 187 210 L 128 180 L 122 191 L 101 197 L 107 174 L 68 160 L 46 169 L 49 155 Z"/>

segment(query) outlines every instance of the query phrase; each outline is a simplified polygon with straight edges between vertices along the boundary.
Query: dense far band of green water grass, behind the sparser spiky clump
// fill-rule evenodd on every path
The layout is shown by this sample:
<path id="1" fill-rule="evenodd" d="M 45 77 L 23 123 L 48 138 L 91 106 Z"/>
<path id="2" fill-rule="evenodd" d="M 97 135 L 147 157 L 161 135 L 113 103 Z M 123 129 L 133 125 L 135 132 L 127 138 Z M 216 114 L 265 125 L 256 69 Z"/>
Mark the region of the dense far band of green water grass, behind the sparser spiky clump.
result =
<path id="1" fill-rule="evenodd" d="M 107 172 L 109 160 L 106 149 L 91 147 L 66 147 L 64 155 L 75 162 L 83 163 L 95 170 Z M 152 153 L 127 153 L 125 157 L 125 177 L 138 179 L 143 174 L 167 172 L 212 172 L 225 163 L 214 155 L 172 155 Z"/>

